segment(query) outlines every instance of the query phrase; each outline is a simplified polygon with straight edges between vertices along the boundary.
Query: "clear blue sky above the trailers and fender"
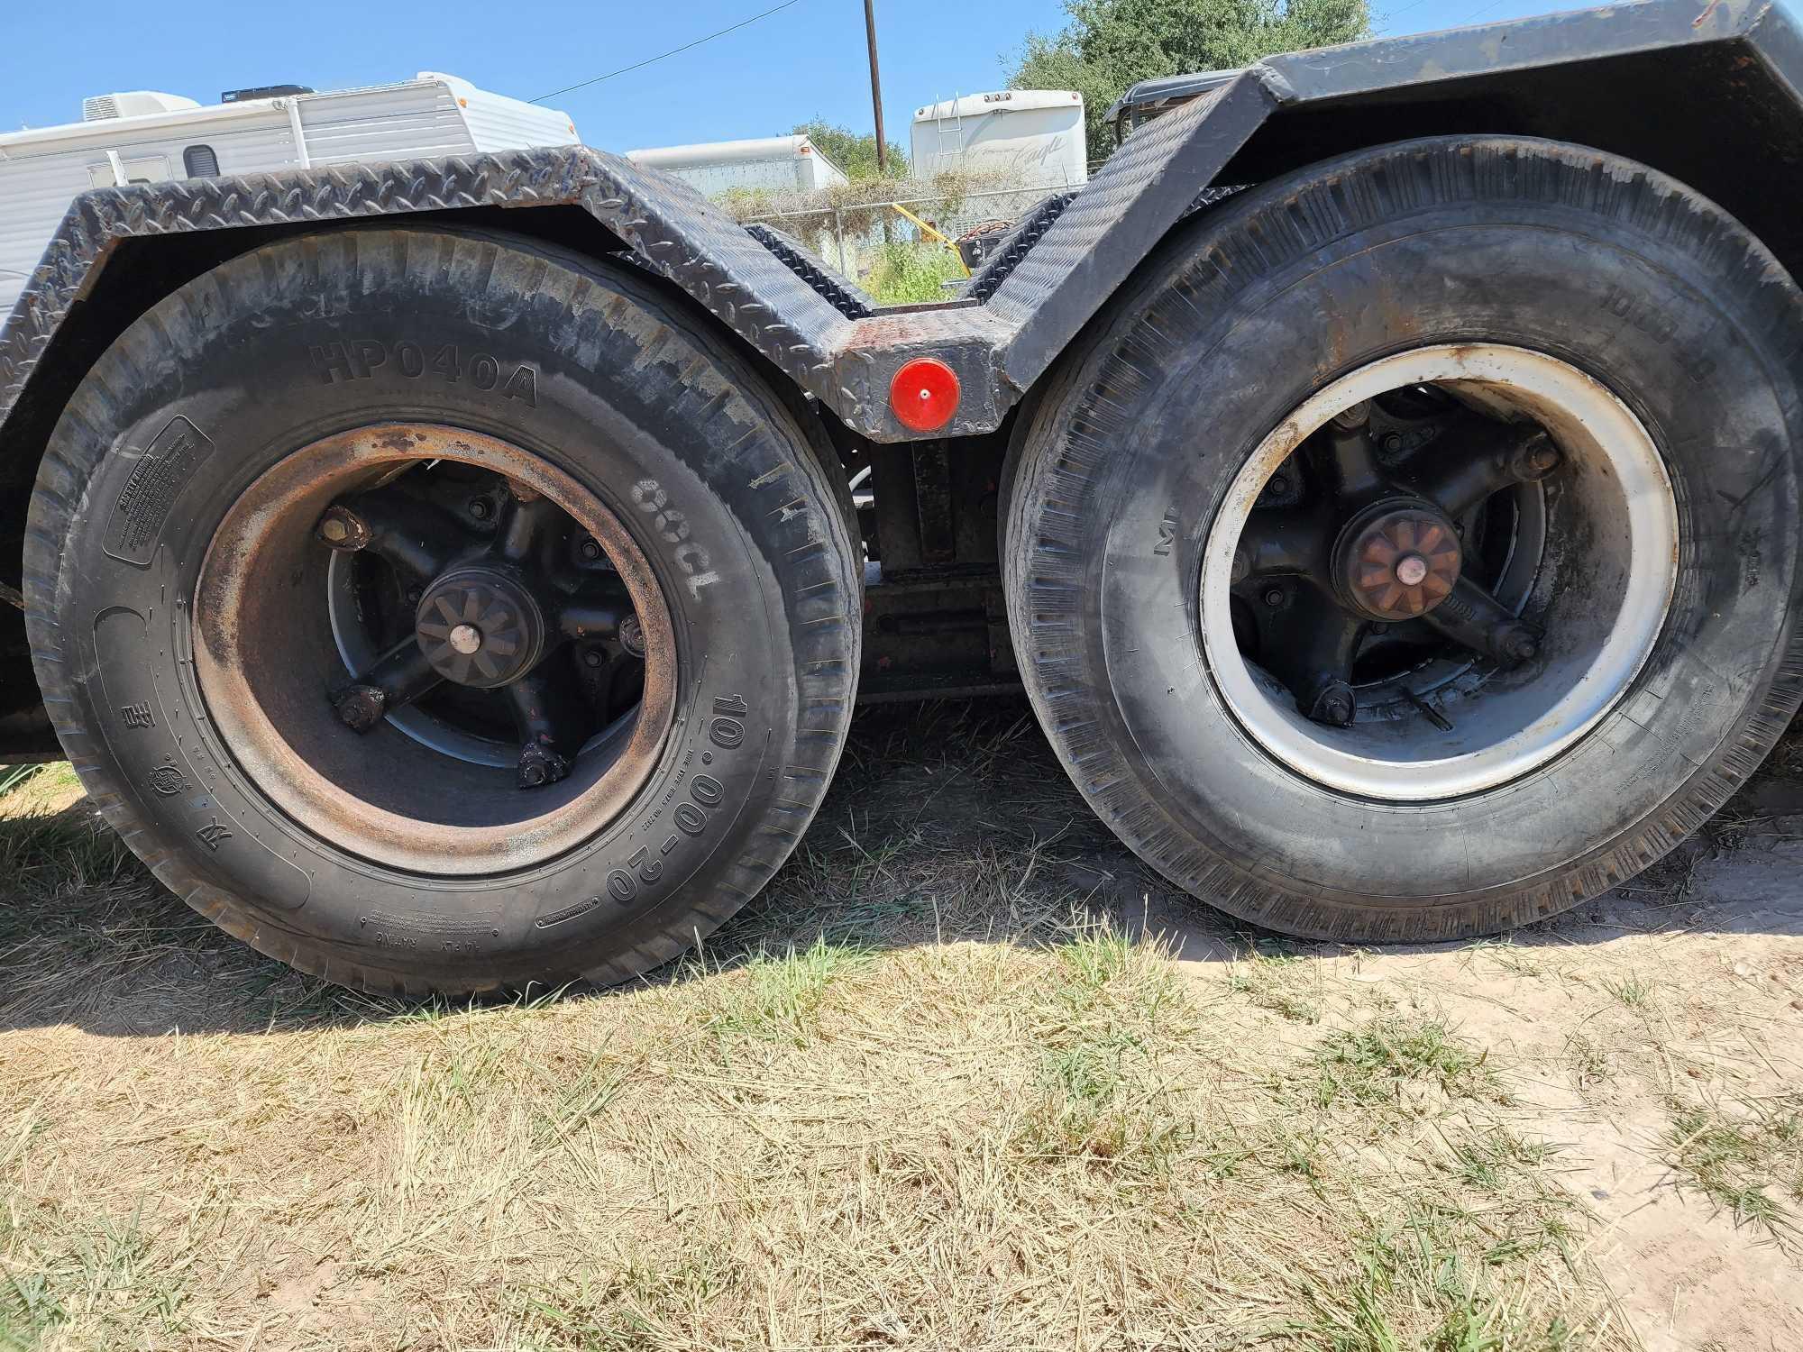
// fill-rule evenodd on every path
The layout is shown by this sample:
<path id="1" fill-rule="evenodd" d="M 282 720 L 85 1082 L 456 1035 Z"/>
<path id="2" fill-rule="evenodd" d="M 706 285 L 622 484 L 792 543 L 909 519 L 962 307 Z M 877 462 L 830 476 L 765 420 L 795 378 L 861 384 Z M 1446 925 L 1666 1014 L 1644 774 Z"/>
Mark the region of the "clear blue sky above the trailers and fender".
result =
<path id="1" fill-rule="evenodd" d="M 449 70 L 537 97 L 692 41 L 779 0 L 0 0 L 0 130 L 81 117 L 81 99 L 157 88 L 343 88 Z M 1374 0 L 1381 32 L 1570 9 L 1549 0 Z M 1028 31 L 1057 31 L 1058 0 L 878 0 L 889 139 L 918 105 L 1001 88 Z M 871 126 L 862 0 L 797 0 L 710 43 L 552 101 L 602 150 L 775 135 L 815 114 Z"/>

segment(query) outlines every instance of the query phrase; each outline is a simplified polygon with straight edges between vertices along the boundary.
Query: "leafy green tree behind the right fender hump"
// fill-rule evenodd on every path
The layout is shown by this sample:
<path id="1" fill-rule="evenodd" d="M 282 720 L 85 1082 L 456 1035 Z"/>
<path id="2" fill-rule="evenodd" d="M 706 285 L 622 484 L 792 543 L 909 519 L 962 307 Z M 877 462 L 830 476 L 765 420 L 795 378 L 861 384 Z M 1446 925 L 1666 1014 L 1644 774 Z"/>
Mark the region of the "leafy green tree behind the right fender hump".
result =
<path id="1" fill-rule="evenodd" d="M 1008 83 L 1082 94 L 1091 160 L 1114 150 L 1102 115 L 1134 81 L 1370 34 L 1367 0 L 1066 0 L 1064 11 L 1062 32 L 1028 34 Z"/>

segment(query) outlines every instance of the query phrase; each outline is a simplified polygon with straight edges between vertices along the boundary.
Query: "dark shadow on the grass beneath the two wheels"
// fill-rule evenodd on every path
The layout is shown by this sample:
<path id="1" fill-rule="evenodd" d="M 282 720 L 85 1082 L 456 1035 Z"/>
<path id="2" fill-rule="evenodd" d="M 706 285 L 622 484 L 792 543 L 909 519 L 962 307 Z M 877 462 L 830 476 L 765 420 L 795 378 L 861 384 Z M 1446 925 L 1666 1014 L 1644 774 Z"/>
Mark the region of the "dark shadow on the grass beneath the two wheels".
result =
<path id="1" fill-rule="evenodd" d="M 157 885 L 79 800 L 0 818 L 0 1031 L 254 1033 L 440 1008 L 328 986 L 238 945 Z M 1174 889 L 1089 811 L 1026 701 L 988 699 L 862 710 L 790 863 L 700 959 L 647 981 L 822 936 L 862 948 L 1039 945 L 1084 914 L 1161 934 L 1185 963 L 1349 952 L 1251 930 Z M 1565 946 L 1673 930 L 1803 936 L 1803 726 L 1695 840 L 1630 885 L 1506 941 Z M 541 999 L 552 997 L 606 993 Z"/>

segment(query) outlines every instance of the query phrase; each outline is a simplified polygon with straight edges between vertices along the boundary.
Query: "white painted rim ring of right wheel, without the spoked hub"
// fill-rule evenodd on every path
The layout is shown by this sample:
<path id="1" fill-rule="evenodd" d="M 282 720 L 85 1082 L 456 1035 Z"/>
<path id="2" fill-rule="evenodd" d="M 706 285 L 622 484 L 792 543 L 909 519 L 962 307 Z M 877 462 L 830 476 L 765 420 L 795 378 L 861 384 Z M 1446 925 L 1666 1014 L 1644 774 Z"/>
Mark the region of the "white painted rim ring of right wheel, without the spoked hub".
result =
<path id="1" fill-rule="evenodd" d="M 1332 728 L 1239 651 L 1231 618 L 1233 550 L 1264 485 L 1311 433 L 1341 409 L 1406 386 L 1451 386 L 1469 402 L 1536 420 L 1565 452 L 1606 537 L 1594 566 L 1619 586 L 1597 602 L 1590 640 L 1563 647 L 1549 633 L 1543 676 L 1493 692 L 1451 732 L 1410 725 Z M 1284 418 L 1235 476 L 1203 546 L 1201 629 L 1210 674 L 1240 728 L 1286 768 L 1347 793 L 1426 802 L 1496 788 L 1569 748 L 1623 698 L 1646 665 L 1677 586 L 1679 526 L 1671 480 L 1639 418 L 1578 368 L 1525 348 L 1444 344 L 1370 362 Z M 1603 582 L 1599 582 L 1599 588 Z M 1574 602 L 1576 604 L 1576 602 Z M 1588 602 L 1587 602 L 1588 604 Z M 1605 615 L 1601 611 L 1612 611 Z M 1534 687 L 1543 707 L 1534 708 Z M 1486 698 L 1486 696 L 1477 696 Z M 1473 705 L 1475 710 L 1475 705 Z"/>

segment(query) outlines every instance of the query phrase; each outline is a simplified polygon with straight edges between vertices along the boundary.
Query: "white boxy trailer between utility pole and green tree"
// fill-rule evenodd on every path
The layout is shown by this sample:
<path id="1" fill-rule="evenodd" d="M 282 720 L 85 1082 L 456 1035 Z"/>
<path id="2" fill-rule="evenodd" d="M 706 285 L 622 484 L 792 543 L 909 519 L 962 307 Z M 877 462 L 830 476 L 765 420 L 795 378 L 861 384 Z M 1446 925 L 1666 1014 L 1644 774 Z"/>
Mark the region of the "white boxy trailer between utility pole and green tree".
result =
<path id="1" fill-rule="evenodd" d="M 1082 187 L 1089 182 L 1084 96 L 1006 88 L 932 103 L 914 110 L 909 153 L 916 178 L 993 173 L 1010 187 Z"/>

